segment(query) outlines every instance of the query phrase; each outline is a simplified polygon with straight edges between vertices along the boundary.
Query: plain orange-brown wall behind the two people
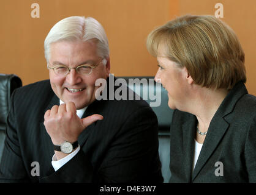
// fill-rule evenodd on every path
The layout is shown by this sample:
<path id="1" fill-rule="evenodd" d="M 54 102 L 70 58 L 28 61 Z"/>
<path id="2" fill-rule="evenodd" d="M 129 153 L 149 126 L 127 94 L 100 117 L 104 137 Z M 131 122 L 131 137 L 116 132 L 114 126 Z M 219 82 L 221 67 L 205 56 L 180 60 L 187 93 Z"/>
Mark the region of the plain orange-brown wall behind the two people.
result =
<path id="1" fill-rule="evenodd" d="M 34 12 L 37 3 L 40 12 Z M 255 0 L 1 0 L 0 73 L 17 74 L 23 85 L 48 79 L 43 41 L 51 27 L 67 16 L 96 18 L 110 44 L 115 76 L 154 76 L 157 62 L 148 54 L 146 37 L 157 26 L 184 14 L 214 15 L 235 30 L 246 53 L 247 89 L 256 95 Z M 39 18 L 33 18 L 33 13 Z"/>

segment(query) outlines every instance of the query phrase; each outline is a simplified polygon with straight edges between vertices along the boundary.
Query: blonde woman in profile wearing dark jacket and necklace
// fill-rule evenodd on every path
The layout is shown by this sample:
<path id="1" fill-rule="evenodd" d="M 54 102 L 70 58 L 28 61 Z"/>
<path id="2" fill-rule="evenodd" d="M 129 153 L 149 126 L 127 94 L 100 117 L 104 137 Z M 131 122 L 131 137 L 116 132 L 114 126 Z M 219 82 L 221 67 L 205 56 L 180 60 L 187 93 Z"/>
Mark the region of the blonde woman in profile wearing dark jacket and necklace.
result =
<path id="1" fill-rule="evenodd" d="M 233 30 L 185 15 L 153 30 L 147 48 L 175 109 L 170 182 L 256 182 L 256 97 Z"/>

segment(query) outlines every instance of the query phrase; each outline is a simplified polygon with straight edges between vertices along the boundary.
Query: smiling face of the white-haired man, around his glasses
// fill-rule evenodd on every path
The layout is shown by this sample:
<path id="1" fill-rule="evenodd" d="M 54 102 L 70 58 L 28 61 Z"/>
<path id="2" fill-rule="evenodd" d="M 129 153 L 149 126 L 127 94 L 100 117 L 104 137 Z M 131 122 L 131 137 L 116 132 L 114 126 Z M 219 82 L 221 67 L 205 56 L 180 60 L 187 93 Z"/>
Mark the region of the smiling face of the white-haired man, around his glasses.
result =
<path id="1" fill-rule="evenodd" d="M 102 59 L 97 55 L 97 44 L 94 41 L 59 41 L 51 44 L 50 66 L 66 65 L 75 68 L 85 63 L 99 65 L 92 69 L 89 75 L 82 75 L 71 69 L 67 76 L 55 74 L 49 70 L 51 88 L 56 96 L 67 104 L 74 102 L 77 109 L 84 108 L 95 101 L 97 88 L 95 82 L 99 78 L 107 79 L 110 73 L 110 62 L 100 63 Z"/>

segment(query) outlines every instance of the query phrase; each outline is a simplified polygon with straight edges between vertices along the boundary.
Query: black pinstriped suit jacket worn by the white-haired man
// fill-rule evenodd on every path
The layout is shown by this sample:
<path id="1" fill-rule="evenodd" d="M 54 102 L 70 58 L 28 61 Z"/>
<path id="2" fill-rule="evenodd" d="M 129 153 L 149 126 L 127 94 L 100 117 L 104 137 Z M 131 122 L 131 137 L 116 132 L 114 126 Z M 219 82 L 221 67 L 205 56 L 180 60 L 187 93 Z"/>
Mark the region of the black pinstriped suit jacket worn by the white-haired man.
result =
<path id="1" fill-rule="evenodd" d="M 157 118 L 145 101 L 94 101 L 83 118 L 98 113 L 104 119 L 81 133 L 80 151 L 56 172 L 43 125 L 53 105 L 59 99 L 49 80 L 14 91 L 0 182 L 162 182 Z M 39 162 L 40 176 L 31 175 L 33 161 Z"/>

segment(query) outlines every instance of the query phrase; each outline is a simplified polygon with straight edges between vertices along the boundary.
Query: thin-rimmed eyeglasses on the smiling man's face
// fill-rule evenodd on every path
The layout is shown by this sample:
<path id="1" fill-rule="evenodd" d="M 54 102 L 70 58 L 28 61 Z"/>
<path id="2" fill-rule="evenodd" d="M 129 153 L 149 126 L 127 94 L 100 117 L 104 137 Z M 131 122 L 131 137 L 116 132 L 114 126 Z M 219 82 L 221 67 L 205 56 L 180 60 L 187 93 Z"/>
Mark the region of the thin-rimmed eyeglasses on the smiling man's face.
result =
<path id="1" fill-rule="evenodd" d="M 80 65 L 80 66 L 77 66 L 75 68 L 69 68 L 66 65 L 55 65 L 53 67 L 50 67 L 49 64 L 47 63 L 47 68 L 48 69 L 53 69 L 55 74 L 58 74 L 59 76 L 66 76 L 67 74 L 70 73 L 71 69 L 75 69 L 77 71 L 77 73 L 79 73 L 79 74 L 89 75 L 89 74 L 92 73 L 92 69 L 96 68 L 100 63 L 103 63 L 105 65 L 106 61 L 107 61 L 106 59 L 103 59 L 102 61 L 100 61 L 96 65 L 86 63 L 84 65 Z"/>

